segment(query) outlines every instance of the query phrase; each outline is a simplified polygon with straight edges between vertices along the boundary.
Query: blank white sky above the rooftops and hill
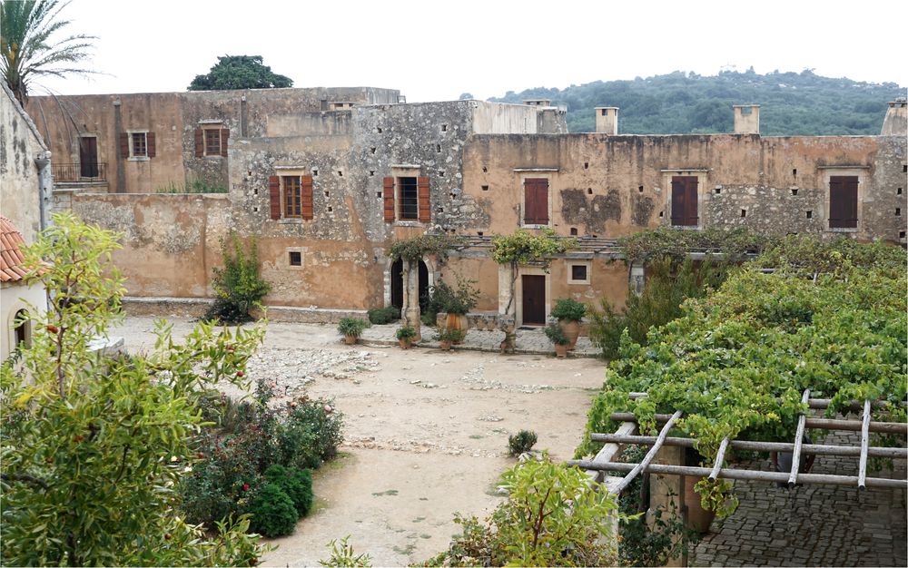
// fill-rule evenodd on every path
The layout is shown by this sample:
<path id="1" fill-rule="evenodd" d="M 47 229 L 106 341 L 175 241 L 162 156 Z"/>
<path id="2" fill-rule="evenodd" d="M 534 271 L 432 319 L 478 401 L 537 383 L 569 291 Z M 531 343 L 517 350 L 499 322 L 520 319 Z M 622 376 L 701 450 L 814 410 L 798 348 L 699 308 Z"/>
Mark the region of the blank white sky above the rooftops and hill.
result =
<path id="1" fill-rule="evenodd" d="M 898 7 L 902 5 L 903 7 Z M 410 103 L 734 66 L 908 85 L 905 6 L 824 0 L 73 0 L 110 76 L 56 93 L 184 91 L 217 56 L 262 55 L 297 87 L 400 89 Z M 44 91 L 33 85 L 33 93 Z"/>

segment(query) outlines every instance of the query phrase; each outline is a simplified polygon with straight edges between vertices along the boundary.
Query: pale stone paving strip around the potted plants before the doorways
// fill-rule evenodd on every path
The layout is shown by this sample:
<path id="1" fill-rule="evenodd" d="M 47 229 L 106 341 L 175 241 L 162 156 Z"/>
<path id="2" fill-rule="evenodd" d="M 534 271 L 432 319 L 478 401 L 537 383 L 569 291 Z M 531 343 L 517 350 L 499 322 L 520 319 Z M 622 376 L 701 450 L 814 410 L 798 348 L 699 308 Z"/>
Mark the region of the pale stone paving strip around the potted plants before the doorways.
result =
<path id="1" fill-rule="evenodd" d="M 362 332 L 360 341 L 365 344 L 379 345 L 397 345 L 398 340 L 395 333 L 399 324 L 388 324 L 384 326 L 373 325 Z M 422 327 L 422 341 L 417 345 L 424 348 L 438 348 L 439 342 L 434 339 L 435 333 L 432 328 Z M 485 329 L 469 329 L 463 343 L 454 346 L 455 349 L 470 349 L 473 351 L 494 351 L 501 350 L 501 342 L 505 338 L 504 331 L 488 331 Z M 527 355 L 554 355 L 555 348 L 552 342 L 548 340 L 542 328 L 531 328 L 517 330 L 516 353 Z M 598 357 L 601 351 L 590 343 L 589 338 L 577 338 L 577 347 L 568 353 L 568 357 Z"/>

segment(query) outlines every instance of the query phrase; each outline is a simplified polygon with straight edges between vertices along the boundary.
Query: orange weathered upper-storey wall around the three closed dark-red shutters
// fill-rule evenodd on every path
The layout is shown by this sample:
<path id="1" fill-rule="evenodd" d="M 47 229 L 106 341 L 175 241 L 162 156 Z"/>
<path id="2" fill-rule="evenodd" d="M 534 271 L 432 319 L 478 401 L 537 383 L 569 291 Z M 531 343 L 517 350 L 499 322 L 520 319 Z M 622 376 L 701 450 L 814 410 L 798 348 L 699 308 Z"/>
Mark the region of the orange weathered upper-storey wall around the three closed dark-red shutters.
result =
<path id="1" fill-rule="evenodd" d="M 477 135 L 464 156 L 464 192 L 481 205 L 467 227 L 515 230 L 522 180 L 548 177 L 553 229 L 627 235 L 670 222 L 671 176 L 686 174 L 700 178 L 701 227 L 831 234 L 827 176 L 851 167 L 863 184 L 854 236 L 894 241 L 904 230 L 896 214 L 904 162 L 905 141 L 895 137 Z"/>

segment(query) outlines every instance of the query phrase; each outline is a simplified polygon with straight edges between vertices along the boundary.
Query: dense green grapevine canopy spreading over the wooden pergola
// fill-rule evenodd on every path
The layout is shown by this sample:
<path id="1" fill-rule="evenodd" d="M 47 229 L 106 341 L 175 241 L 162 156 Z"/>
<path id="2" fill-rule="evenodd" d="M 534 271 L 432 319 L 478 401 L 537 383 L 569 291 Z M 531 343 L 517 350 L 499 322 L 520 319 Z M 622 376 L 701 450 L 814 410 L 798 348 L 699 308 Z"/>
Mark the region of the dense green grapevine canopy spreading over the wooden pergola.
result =
<path id="1" fill-rule="evenodd" d="M 767 265 L 775 272 L 758 269 Z M 653 432 L 656 413 L 682 410 L 678 430 L 699 439 L 711 465 L 725 436 L 794 439 L 805 388 L 832 399 L 829 416 L 871 398 L 893 403 L 875 410 L 876 419 L 904 421 L 905 269 L 904 251 L 881 243 L 775 243 L 715 293 L 688 299 L 680 318 L 649 331 L 646 346 L 625 332 L 577 455 L 597 451 L 589 433 L 615 430 L 613 412 L 632 411 Z M 632 391 L 648 396 L 630 400 Z M 698 490 L 705 505 L 729 503 L 726 486 Z"/>

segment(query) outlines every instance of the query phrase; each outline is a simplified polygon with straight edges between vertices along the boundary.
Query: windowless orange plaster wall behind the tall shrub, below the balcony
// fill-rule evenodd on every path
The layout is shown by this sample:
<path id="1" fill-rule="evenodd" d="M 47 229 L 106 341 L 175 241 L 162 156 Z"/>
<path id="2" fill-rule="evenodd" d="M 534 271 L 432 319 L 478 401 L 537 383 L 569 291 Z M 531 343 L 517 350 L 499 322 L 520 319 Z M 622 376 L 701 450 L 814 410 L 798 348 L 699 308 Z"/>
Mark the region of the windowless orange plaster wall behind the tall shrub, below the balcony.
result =
<path id="1" fill-rule="evenodd" d="M 233 226 L 227 196 L 81 194 L 72 206 L 86 222 L 123 233 L 114 264 L 127 296 L 212 297 L 220 239 Z"/>

